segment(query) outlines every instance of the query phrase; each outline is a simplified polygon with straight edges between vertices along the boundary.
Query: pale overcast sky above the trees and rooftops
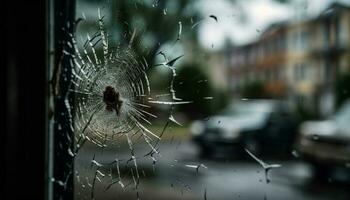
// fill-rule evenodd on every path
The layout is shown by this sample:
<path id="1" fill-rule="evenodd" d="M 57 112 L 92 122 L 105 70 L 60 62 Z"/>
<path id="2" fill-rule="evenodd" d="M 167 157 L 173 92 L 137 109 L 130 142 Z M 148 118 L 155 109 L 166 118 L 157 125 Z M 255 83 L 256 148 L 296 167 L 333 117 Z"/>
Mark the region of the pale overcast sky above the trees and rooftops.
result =
<path id="1" fill-rule="evenodd" d="M 318 15 L 335 0 L 292 0 L 282 4 L 273 0 L 201 0 L 197 6 L 204 20 L 195 28 L 201 44 L 218 49 L 229 38 L 234 44 L 246 44 L 255 40 L 271 23 L 295 20 L 296 13 L 307 17 Z M 338 0 L 350 5 L 350 0 Z M 297 9 L 298 8 L 298 9 Z M 218 23 L 210 18 L 215 15 Z"/>

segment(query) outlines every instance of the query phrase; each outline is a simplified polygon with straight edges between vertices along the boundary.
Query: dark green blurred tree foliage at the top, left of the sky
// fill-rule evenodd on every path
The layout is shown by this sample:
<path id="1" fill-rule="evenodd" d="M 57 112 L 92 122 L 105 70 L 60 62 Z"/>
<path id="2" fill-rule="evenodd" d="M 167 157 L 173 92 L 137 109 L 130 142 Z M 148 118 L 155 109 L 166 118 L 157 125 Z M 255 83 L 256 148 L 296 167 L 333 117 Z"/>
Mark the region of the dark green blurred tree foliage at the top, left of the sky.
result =
<path id="1" fill-rule="evenodd" d="M 153 63 L 160 45 L 176 41 L 179 21 L 188 25 L 191 18 L 199 18 L 196 10 L 191 14 L 184 14 L 184 10 L 193 3 L 186 0 L 162 0 L 154 1 L 153 4 L 143 1 L 113 1 L 111 13 L 117 19 L 112 20 L 111 26 L 125 37 L 120 40 L 122 45 L 130 45 L 133 38 L 131 46 L 135 53 L 145 57 L 148 63 Z M 166 14 L 165 9 L 169 10 Z M 187 37 L 197 41 L 197 34 L 190 33 Z"/>

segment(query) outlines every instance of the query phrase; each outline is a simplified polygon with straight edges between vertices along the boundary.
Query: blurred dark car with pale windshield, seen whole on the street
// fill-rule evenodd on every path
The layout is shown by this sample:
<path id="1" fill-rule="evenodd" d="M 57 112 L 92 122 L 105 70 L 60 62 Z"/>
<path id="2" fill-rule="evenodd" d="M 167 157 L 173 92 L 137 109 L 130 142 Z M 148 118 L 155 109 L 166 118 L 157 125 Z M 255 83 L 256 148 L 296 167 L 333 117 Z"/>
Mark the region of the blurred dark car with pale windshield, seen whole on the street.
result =
<path id="1" fill-rule="evenodd" d="M 193 122 L 191 133 L 202 155 L 223 148 L 241 152 L 246 148 L 254 154 L 284 154 L 292 148 L 296 127 L 286 103 L 242 100 L 207 121 Z"/>

